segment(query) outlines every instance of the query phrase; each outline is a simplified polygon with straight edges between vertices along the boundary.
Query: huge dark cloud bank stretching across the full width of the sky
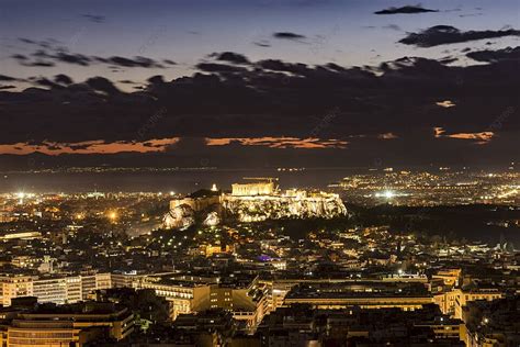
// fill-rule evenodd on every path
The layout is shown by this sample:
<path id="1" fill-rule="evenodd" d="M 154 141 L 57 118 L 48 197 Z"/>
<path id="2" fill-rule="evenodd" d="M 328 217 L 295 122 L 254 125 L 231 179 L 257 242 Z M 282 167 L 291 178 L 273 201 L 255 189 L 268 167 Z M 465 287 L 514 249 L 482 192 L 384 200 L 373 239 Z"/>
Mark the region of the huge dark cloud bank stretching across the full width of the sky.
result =
<path id="1" fill-rule="evenodd" d="M 199 146 L 222 163 L 261 157 L 283 164 L 305 155 L 312 163 L 358 163 L 384 154 L 457 160 L 457 154 L 490 155 L 486 148 L 501 150 L 493 159 L 516 155 L 518 113 L 502 116 L 520 110 L 518 63 L 511 59 L 461 67 L 404 57 L 362 68 L 247 60 L 242 66 L 204 61 L 196 66 L 200 72 L 171 81 L 155 76 L 134 92 L 102 77 L 69 85 L 39 78 L 35 82 L 45 89 L 0 93 L 0 116 L 16 114 L 5 122 L 2 142 L 129 143 L 151 119 L 154 126 L 139 141 L 160 148 L 154 139 L 216 138 L 212 148 Z M 165 110 L 160 117 L 158 110 Z M 500 128 L 491 128 L 497 119 Z M 321 141 L 305 141 L 309 137 Z M 295 144 L 302 148 L 286 148 Z M 346 148 L 319 149 L 332 150 L 329 159 L 324 152 L 310 154 L 321 144 Z M 244 147 L 255 154 L 250 159 Z M 185 146 L 172 146 L 168 155 L 182 150 Z"/>

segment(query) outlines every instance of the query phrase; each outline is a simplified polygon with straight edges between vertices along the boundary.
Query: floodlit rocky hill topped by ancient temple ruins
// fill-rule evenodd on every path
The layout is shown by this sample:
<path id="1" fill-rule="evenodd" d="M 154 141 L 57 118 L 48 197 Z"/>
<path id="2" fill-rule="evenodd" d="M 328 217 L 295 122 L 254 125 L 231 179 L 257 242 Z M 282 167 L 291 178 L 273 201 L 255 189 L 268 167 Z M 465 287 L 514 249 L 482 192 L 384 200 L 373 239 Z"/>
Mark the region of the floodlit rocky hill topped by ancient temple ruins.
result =
<path id="1" fill-rule="evenodd" d="M 331 219 L 347 214 L 338 194 L 323 191 L 287 189 L 281 191 L 275 179 L 253 178 L 251 182 L 231 184 L 231 192 L 213 187 L 170 202 L 165 227 L 188 227 L 201 216 L 205 225 L 217 225 L 223 219 L 260 222 L 278 219 Z"/>

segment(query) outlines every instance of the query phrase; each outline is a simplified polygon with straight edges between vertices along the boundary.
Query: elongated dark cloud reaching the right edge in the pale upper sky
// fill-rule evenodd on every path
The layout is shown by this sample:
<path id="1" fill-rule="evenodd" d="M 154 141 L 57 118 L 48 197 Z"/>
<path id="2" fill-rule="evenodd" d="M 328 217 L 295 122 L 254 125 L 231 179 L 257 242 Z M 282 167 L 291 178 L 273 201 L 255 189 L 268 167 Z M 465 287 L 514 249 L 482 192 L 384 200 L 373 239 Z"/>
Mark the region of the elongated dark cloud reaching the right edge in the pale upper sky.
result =
<path id="1" fill-rule="evenodd" d="M 436 25 L 419 33 L 408 33 L 399 43 L 416 47 L 433 47 L 445 44 L 454 44 L 484 38 L 520 36 L 520 31 L 508 30 L 485 30 L 485 31 L 460 31 L 450 25 Z"/>

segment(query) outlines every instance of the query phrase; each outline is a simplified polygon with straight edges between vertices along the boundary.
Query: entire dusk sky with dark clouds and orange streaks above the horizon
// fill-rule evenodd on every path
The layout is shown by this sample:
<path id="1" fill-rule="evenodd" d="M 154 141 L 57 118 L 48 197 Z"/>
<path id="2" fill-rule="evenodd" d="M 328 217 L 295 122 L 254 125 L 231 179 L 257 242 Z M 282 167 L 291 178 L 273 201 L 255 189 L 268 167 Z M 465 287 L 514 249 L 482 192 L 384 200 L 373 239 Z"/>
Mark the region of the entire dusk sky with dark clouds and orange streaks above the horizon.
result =
<path id="1" fill-rule="evenodd" d="M 509 166 L 519 19 L 518 0 L 2 0 L 0 166 Z"/>

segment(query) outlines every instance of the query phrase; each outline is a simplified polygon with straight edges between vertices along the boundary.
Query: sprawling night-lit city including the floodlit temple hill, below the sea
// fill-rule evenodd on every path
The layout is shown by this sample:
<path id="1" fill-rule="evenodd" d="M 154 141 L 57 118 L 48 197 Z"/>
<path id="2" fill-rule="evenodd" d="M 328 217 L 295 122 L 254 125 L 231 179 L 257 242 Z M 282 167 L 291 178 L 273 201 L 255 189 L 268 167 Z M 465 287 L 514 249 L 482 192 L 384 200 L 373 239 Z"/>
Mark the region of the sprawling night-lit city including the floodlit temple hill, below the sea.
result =
<path id="1" fill-rule="evenodd" d="M 519 179 L 1 194 L 0 346 L 519 346 Z"/>

